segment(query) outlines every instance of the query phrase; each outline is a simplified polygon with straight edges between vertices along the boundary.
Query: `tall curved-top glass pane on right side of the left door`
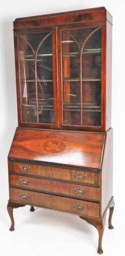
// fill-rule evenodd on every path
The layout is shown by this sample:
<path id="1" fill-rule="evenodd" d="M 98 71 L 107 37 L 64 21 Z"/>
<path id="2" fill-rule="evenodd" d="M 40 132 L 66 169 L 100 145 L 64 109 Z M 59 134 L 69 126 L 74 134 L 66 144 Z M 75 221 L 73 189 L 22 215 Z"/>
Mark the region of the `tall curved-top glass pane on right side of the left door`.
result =
<path id="1" fill-rule="evenodd" d="M 44 40 L 37 54 L 37 88 L 40 123 L 54 123 L 52 35 Z M 48 54 L 49 52 L 49 54 Z"/>

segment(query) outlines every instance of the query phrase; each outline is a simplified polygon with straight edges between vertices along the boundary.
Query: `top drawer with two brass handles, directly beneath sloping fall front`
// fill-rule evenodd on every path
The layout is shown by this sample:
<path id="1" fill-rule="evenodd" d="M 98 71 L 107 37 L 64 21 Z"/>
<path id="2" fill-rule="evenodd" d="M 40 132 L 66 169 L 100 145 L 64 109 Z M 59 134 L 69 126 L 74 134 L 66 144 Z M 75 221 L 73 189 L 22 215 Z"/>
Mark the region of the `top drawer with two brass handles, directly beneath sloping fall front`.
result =
<path id="1" fill-rule="evenodd" d="M 9 161 L 9 171 L 41 176 L 48 179 L 75 181 L 95 185 L 100 184 L 100 173 L 98 172 L 84 172 L 82 170 L 64 169 L 12 161 Z"/>

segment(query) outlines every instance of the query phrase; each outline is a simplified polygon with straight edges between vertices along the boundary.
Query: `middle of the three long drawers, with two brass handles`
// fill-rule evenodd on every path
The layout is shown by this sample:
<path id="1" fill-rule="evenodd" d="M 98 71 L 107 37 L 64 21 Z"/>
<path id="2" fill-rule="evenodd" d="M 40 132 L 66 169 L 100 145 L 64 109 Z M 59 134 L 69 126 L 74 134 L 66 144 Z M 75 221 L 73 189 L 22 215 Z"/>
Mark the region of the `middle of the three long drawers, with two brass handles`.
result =
<path id="1" fill-rule="evenodd" d="M 28 176 L 10 175 L 10 186 L 30 188 L 66 196 L 100 200 L 100 188 L 69 184 L 59 181 L 36 179 Z"/>

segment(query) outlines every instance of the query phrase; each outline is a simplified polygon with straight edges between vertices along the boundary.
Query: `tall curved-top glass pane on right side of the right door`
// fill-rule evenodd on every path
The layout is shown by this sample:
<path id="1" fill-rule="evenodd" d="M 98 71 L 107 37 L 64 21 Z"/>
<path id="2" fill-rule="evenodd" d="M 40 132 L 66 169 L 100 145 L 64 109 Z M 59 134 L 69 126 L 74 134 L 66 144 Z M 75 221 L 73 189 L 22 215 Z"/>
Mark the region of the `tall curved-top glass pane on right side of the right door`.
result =
<path id="1" fill-rule="evenodd" d="M 101 29 L 89 37 L 82 50 L 82 124 L 101 126 Z M 86 81 L 87 80 L 87 81 Z"/>

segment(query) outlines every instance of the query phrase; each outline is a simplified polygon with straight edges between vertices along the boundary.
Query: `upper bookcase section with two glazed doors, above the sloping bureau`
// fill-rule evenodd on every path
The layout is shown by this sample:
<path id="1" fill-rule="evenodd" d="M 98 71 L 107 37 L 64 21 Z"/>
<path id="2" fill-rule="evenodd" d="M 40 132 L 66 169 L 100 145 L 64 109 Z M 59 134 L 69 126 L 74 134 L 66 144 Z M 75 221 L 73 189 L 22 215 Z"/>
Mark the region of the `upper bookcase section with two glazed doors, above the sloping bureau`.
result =
<path id="1" fill-rule="evenodd" d="M 15 20 L 19 126 L 110 128 L 111 22 L 104 7 Z"/>

